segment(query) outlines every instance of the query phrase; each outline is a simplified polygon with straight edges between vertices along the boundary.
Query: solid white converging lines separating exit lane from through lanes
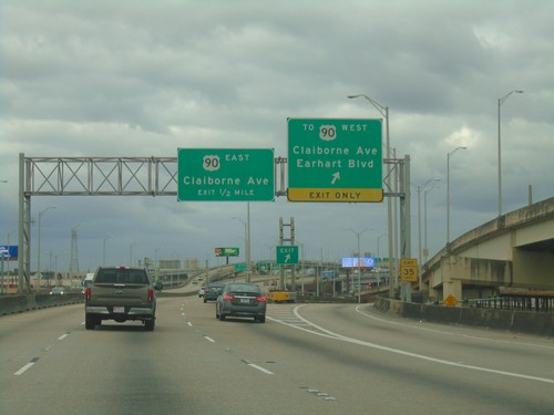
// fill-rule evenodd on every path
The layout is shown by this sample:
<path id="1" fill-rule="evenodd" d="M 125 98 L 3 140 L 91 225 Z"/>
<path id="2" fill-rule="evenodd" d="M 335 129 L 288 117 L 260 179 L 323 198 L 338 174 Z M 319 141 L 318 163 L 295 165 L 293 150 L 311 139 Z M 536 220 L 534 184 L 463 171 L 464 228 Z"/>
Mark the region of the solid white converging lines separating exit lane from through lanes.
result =
<path id="1" fill-rule="evenodd" d="M 347 343 L 352 343 L 352 344 L 358 344 L 358 345 L 362 345 L 362 346 L 366 346 L 366 347 L 382 350 L 384 352 L 401 354 L 403 356 L 413 357 L 413 359 L 420 359 L 420 360 L 423 360 L 423 361 L 439 363 L 439 364 L 443 364 L 443 365 L 447 365 L 447 366 L 463 367 L 463 369 L 469 369 L 469 370 L 478 371 L 478 372 L 494 373 L 494 374 L 499 374 L 499 375 L 503 375 L 503 376 L 526 378 L 526 380 L 531 380 L 531 381 L 537 381 L 537 382 L 544 382 L 544 383 L 554 384 L 554 380 L 553 378 L 531 376 L 531 375 L 525 375 L 525 374 L 521 374 L 521 373 L 497 371 L 497 370 L 494 370 L 494 369 L 488 369 L 488 367 L 468 365 L 468 364 L 462 364 L 462 363 L 458 363 L 458 362 L 447 361 L 447 360 L 443 360 L 443 359 L 435 359 L 435 357 L 431 357 L 431 356 L 425 356 L 423 354 L 407 352 L 407 351 L 400 350 L 400 349 L 388 347 L 388 346 L 383 346 L 383 345 L 380 345 L 380 344 L 366 342 L 366 341 L 358 340 L 358 339 L 348 338 L 346 335 L 341 335 L 341 334 L 331 332 L 330 330 L 324 329 L 320 325 L 317 325 L 317 324 L 310 322 L 309 320 L 302 318 L 299 314 L 299 312 L 298 312 L 298 310 L 301 307 L 304 307 L 304 305 L 297 305 L 297 307 L 294 308 L 293 312 L 295 313 L 295 315 L 298 319 L 302 320 L 305 323 L 309 324 L 311 328 L 321 331 L 321 333 L 316 332 L 314 330 L 307 330 L 305 328 L 300 328 L 300 326 L 295 325 L 295 324 L 289 324 L 289 323 L 286 323 L 284 321 L 279 321 L 279 320 L 276 320 L 276 319 L 271 319 L 271 320 L 274 320 L 274 321 L 276 321 L 278 323 L 291 326 L 294 329 L 306 331 L 306 332 L 308 332 L 310 334 L 316 334 L 316 335 L 320 335 L 320 336 L 329 338 L 329 339 L 336 339 L 336 340 L 340 340 L 340 341 L 343 341 L 343 342 L 347 342 Z"/>

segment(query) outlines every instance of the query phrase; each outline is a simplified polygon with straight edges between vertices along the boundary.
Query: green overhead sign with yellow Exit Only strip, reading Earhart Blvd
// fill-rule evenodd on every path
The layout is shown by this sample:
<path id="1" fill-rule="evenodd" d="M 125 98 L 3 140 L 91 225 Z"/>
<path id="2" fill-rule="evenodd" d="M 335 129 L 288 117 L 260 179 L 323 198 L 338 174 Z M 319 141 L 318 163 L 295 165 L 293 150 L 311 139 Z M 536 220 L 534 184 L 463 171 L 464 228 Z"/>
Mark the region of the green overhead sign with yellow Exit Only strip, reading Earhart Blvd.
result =
<path id="1" fill-rule="evenodd" d="M 382 201 L 382 120 L 288 118 L 290 201 Z"/>

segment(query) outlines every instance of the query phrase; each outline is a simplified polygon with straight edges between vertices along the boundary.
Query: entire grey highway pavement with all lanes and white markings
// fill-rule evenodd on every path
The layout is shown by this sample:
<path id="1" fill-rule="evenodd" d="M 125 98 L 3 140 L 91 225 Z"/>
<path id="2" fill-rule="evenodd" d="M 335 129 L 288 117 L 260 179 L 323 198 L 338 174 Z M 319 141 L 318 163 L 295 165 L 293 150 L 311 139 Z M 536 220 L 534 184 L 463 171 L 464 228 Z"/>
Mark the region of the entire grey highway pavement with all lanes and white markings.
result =
<path id="1" fill-rule="evenodd" d="M 554 341 L 370 304 L 269 304 L 267 322 L 160 298 L 84 329 L 83 305 L 0 318 L 0 414 L 553 414 Z"/>

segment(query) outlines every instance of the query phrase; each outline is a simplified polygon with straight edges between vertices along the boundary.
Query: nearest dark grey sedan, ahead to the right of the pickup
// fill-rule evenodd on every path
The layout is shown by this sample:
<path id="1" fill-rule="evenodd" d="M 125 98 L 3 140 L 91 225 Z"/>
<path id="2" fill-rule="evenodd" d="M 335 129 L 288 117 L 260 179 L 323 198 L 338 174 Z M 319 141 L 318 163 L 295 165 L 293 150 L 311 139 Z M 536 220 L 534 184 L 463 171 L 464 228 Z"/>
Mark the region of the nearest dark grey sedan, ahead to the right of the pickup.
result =
<path id="1" fill-rule="evenodd" d="M 217 298 L 215 317 L 222 321 L 227 317 L 254 318 L 265 323 L 266 307 L 267 298 L 257 284 L 233 282 L 225 284 Z"/>

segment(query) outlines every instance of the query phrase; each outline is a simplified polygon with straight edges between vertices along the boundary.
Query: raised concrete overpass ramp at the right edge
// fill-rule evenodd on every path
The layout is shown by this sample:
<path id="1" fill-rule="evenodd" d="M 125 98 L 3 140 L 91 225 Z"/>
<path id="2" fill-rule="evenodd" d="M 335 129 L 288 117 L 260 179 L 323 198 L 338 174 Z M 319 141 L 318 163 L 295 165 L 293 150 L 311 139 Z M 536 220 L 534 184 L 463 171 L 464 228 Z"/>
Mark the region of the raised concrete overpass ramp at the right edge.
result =
<path id="1" fill-rule="evenodd" d="M 501 287 L 554 290 L 554 198 L 493 219 L 422 268 L 430 300 L 494 297 Z"/>

